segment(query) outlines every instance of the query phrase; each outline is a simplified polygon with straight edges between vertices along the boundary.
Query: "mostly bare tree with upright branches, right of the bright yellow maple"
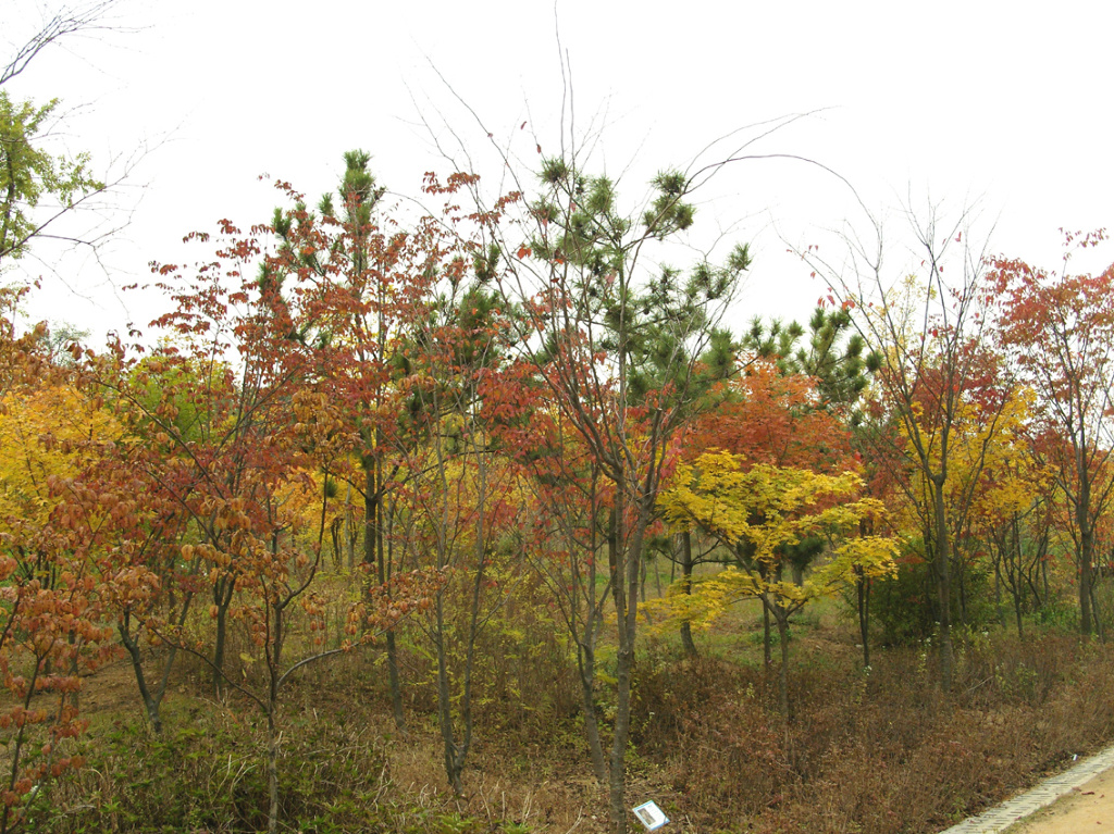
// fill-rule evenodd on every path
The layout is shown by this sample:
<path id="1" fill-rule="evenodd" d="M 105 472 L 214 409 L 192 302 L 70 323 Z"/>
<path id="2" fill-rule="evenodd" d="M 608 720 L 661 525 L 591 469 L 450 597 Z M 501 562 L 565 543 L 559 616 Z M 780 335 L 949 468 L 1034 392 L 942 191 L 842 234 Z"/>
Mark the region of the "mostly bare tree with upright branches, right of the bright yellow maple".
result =
<path id="1" fill-rule="evenodd" d="M 969 382 L 985 369 L 986 353 L 980 347 L 988 334 L 985 261 L 984 253 L 971 246 L 968 214 L 952 223 L 935 209 L 924 219 L 912 212 L 908 216 L 917 267 L 922 271 L 919 275 L 889 273 L 879 223 L 869 241 L 846 239 L 846 262 L 838 266 L 817 247 L 802 257 L 828 283 L 833 303 L 857 310 L 853 322 L 881 360 L 874 375 L 879 418 L 901 429 L 879 436 L 901 438 L 889 460 L 920 473 L 929 490 L 940 679 L 950 689 L 955 670 L 951 560 L 954 530 L 961 524 L 949 518 L 948 480 L 956 424 L 969 403 Z M 947 275 L 946 267 L 950 267 Z M 991 429 L 983 433 L 988 443 L 1009 398 L 988 393 L 987 401 L 995 403 L 983 412 Z M 978 454 L 974 467 L 981 467 Z"/>

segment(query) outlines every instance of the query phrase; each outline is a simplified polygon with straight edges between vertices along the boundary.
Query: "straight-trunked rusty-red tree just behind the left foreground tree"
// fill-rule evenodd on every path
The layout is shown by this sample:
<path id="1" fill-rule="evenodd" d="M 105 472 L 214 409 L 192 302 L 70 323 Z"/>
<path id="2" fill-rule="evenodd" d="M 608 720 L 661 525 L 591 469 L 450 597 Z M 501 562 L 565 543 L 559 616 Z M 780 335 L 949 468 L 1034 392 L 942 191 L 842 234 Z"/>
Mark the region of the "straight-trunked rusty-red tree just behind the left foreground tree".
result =
<path id="1" fill-rule="evenodd" d="M 196 239 L 204 244 L 208 236 Z M 185 558 L 196 553 L 204 566 L 217 695 L 226 679 L 237 583 L 248 576 L 255 552 L 248 531 L 273 526 L 273 490 L 300 463 L 284 409 L 304 357 L 287 349 L 281 311 L 250 277 L 260 254 L 254 237 L 225 222 L 215 261 L 193 271 L 153 265 L 177 304 L 155 325 L 170 331 L 174 341 L 134 374 L 117 373 L 114 381 L 109 370 L 101 377 L 138 412 L 137 421 L 149 423 L 155 444 L 148 448 L 147 471 L 189 516 L 196 550 Z M 124 351 L 116 346 L 117 363 L 127 363 Z M 194 418 L 188 424 L 179 422 L 183 410 Z"/>

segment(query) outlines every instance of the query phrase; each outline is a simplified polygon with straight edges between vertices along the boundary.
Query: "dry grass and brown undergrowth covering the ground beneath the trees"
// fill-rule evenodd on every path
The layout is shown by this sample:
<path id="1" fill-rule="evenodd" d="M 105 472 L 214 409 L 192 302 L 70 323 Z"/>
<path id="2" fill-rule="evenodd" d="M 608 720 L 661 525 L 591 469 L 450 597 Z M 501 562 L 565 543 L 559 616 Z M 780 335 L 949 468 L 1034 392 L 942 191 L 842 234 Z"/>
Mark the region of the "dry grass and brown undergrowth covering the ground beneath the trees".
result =
<path id="1" fill-rule="evenodd" d="M 879 649 L 864 674 L 836 601 L 794 619 L 792 636 L 798 717 L 786 729 L 776 675 L 763 670 L 756 608 L 734 610 L 698 635 L 698 661 L 681 655 L 676 635 L 647 634 L 628 756 L 632 805 L 654 799 L 678 832 L 927 834 L 1114 740 L 1114 653 L 1081 648 L 1071 635 L 1024 644 L 1008 632 L 976 636 L 949 698 L 934 683 L 927 646 Z M 489 655 L 482 669 L 463 797 L 444 783 L 429 661 L 420 653 L 403 657 L 404 736 L 391 717 L 380 651 L 300 673 L 283 697 L 280 778 L 284 817 L 297 826 L 291 830 L 605 831 L 606 792 L 592 777 L 571 673 L 556 658 L 512 654 L 514 663 Z M 152 654 L 148 674 L 157 674 L 160 657 Z M 776 669 L 776 646 L 774 657 Z M 250 688 L 261 683 L 252 665 L 233 674 Z M 87 766 L 58 784 L 39 830 L 257 830 L 262 716 L 243 698 L 217 703 L 209 687 L 201 664 L 180 658 L 158 737 L 146 728 L 126 660 L 87 677 Z M 600 691 L 606 709 L 606 684 Z M 1114 802 L 1092 806 L 1114 801 L 1114 774 L 1106 777 L 1029 823 L 1061 825 L 1063 817 L 1061 827 L 1017 832 L 1114 826 Z"/>

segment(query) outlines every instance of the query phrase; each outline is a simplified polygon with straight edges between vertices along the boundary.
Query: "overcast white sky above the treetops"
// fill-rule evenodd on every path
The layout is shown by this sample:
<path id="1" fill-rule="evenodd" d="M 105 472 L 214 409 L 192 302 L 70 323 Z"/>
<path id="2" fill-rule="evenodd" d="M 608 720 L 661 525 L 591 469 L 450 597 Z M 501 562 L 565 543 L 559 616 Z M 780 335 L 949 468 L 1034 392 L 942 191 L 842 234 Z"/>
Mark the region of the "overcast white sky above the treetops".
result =
<path id="1" fill-rule="evenodd" d="M 0 59 L 53 8 L 0 0 Z M 995 225 L 993 252 L 1048 266 L 1061 226 L 1114 229 L 1106 2 L 121 0 L 114 17 L 134 31 L 74 38 L 6 87 L 76 108 L 55 149 L 88 150 L 98 170 L 147 148 L 117 197 L 135 210 L 102 267 L 47 246 L 22 264 L 70 286 L 48 276 L 32 317 L 97 338 L 160 312 L 114 287 L 146 281 L 153 259 L 183 259 L 184 234 L 222 217 L 266 222 L 276 200 L 261 174 L 315 199 L 335 186 L 342 153 L 360 147 L 382 184 L 414 195 L 423 171 L 452 167 L 426 118 L 443 143 L 455 131 L 495 180 L 486 133 L 438 71 L 497 138 L 528 121 L 526 134 L 556 150 L 558 29 L 577 128 L 602 128 L 595 170 L 622 175 L 632 205 L 657 169 L 683 167 L 711 140 L 817 110 L 753 150 L 837 170 L 872 212 L 893 215 L 895 241 L 910 195 L 913 207 L 931 199 L 951 212 L 978 199 L 981 227 Z M 719 232 L 724 253 L 754 245 L 737 327 L 755 314 L 807 317 L 821 295 L 783 238 L 833 246 L 825 229 L 866 226 L 844 186 L 800 163 L 735 166 L 700 200 L 697 246 Z"/>

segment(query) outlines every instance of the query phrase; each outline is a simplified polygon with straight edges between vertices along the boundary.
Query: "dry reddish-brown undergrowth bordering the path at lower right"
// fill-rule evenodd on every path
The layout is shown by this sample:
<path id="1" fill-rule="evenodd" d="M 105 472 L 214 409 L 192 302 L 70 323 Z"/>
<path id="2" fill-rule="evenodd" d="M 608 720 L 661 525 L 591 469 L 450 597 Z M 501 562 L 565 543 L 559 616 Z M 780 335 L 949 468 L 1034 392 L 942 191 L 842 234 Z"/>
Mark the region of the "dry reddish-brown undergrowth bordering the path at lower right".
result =
<path id="1" fill-rule="evenodd" d="M 1053 632 L 958 641 L 942 694 L 925 646 L 869 670 L 798 658 L 792 720 L 776 669 L 639 661 L 638 744 L 697 830 L 937 832 L 1114 739 L 1114 654 Z"/>

